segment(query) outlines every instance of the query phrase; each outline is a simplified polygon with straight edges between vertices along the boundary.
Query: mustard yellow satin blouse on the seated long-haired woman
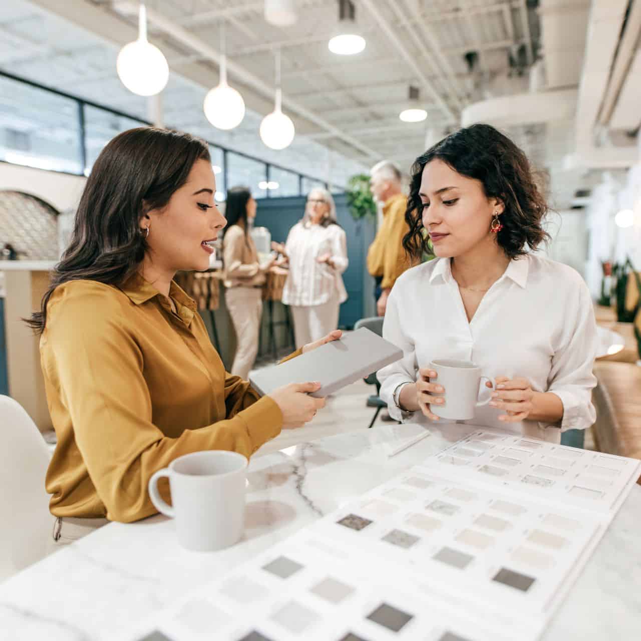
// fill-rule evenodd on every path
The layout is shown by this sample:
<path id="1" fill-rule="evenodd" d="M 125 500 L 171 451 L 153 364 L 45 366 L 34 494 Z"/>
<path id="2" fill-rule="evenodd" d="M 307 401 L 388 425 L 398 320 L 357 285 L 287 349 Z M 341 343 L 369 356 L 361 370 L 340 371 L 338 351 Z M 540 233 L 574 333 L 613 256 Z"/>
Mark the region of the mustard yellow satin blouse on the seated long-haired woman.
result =
<path id="1" fill-rule="evenodd" d="M 54 515 L 142 519 L 156 512 L 149 478 L 176 457 L 249 458 L 281 431 L 278 405 L 225 372 L 194 301 L 173 282 L 169 296 L 177 314 L 140 276 L 121 288 L 71 281 L 51 296 L 40 357 L 58 437 Z"/>

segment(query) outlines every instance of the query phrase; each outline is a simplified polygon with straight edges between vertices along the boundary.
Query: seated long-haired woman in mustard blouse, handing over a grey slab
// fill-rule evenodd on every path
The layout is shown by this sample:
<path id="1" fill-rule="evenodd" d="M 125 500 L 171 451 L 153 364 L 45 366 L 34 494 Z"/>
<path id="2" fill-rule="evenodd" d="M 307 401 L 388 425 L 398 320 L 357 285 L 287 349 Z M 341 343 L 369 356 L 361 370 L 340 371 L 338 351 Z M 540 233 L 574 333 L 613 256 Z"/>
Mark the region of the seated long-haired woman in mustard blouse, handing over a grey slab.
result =
<path id="1" fill-rule="evenodd" d="M 226 373 L 172 280 L 208 268 L 208 243 L 226 223 L 215 192 L 207 145 L 150 127 L 113 138 L 87 180 L 71 243 L 31 319 L 58 437 L 46 478 L 58 544 L 155 513 L 147 482 L 174 458 L 207 449 L 249 458 L 324 404 L 306 394 L 315 383 L 260 398 Z"/>

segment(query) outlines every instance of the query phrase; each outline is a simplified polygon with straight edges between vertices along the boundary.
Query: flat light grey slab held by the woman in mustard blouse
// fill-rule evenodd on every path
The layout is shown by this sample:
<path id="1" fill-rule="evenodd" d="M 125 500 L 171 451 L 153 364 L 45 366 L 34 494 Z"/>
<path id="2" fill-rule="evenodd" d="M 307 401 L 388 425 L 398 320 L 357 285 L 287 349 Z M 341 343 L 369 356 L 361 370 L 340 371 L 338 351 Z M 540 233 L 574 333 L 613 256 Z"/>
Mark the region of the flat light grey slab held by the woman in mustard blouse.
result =
<path id="1" fill-rule="evenodd" d="M 319 381 L 321 387 L 312 396 L 322 398 L 401 358 L 403 350 L 363 327 L 285 363 L 252 372 L 249 382 L 265 395 L 290 383 Z"/>

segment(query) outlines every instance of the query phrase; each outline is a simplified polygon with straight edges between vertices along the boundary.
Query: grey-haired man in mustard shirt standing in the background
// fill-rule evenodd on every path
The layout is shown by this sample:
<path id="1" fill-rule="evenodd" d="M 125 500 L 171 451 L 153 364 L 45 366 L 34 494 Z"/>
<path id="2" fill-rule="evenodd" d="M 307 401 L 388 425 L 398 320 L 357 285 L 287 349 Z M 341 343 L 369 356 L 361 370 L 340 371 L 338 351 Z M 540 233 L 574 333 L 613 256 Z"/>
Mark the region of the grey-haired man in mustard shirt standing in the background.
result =
<path id="1" fill-rule="evenodd" d="M 376 280 L 376 312 L 384 316 L 392 285 L 412 266 L 403 249 L 403 237 L 410 228 L 405 222 L 407 198 L 401 170 L 393 162 L 382 160 L 372 167 L 370 176 L 372 195 L 383 206 L 383 223 L 367 252 L 367 271 Z"/>

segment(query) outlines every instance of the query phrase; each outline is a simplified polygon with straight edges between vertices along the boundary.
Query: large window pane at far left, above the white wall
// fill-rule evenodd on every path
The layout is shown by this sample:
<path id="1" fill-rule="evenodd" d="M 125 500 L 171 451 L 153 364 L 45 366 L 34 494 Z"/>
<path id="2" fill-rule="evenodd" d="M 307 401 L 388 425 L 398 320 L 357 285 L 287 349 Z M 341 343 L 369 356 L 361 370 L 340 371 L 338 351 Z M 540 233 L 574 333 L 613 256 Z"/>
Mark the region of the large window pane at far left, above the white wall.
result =
<path id="1" fill-rule="evenodd" d="M 81 174 L 78 102 L 0 76 L 0 160 Z"/>

